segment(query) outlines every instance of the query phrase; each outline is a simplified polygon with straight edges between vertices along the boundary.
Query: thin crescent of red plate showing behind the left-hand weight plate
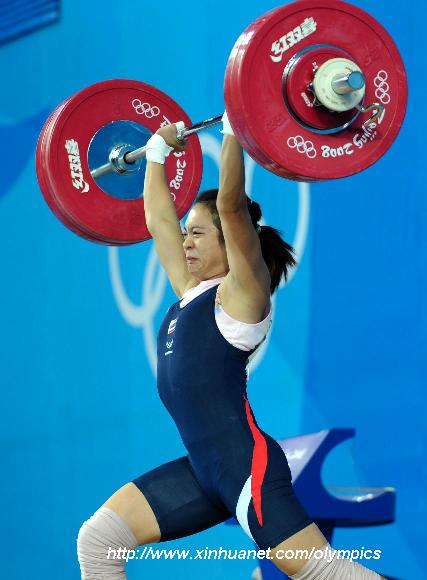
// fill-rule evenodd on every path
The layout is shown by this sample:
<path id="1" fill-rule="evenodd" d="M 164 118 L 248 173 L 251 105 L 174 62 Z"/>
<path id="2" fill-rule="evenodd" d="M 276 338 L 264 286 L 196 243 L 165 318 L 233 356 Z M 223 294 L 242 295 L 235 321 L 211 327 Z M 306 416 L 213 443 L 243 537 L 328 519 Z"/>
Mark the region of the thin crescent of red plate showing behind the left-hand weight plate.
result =
<path id="1" fill-rule="evenodd" d="M 40 189 L 41 189 L 43 196 L 45 198 L 45 201 L 48 204 L 49 208 L 52 210 L 52 212 L 55 214 L 55 216 L 68 229 L 70 229 L 74 233 L 76 233 L 79 236 L 81 236 L 87 240 L 90 240 L 92 242 L 98 242 L 99 240 L 91 237 L 87 232 L 85 232 L 84 230 L 81 230 L 75 223 L 73 223 L 72 221 L 69 220 L 68 216 L 63 212 L 62 208 L 58 205 L 56 198 L 54 196 L 54 193 L 50 191 L 50 189 L 46 183 L 46 180 L 45 180 L 47 165 L 46 165 L 45 160 L 44 160 L 44 153 L 46 151 L 45 144 L 46 144 L 47 133 L 50 130 L 52 122 L 54 121 L 56 116 L 59 114 L 59 112 L 62 110 L 62 108 L 64 107 L 65 102 L 62 103 L 61 105 L 59 105 L 52 112 L 52 114 L 49 116 L 48 120 L 46 121 L 46 123 L 45 123 L 45 125 L 40 133 L 40 137 L 39 137 L 39 140 L 37 143 L 37 148 L 36 148 L 37 178 L 39 181 Z"/>

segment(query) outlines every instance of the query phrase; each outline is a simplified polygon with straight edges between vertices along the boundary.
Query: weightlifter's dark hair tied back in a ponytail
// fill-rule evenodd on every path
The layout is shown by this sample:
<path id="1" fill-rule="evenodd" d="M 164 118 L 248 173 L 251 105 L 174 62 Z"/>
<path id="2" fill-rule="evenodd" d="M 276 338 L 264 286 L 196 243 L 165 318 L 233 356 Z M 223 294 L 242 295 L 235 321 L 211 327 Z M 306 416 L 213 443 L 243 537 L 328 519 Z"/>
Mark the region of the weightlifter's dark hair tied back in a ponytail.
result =
<path id="1" fill-rule="evenodd" d="M 222 233 L 221 220 L 216 209 L 217 196 L 218 189 L 208 189 L 199 194 L 195 203 L 203 204 L 209 209 L 212 215 L 212 221 L 219 232 L 218 239 L 220 243 L 224 244 L 225 240 Z M 271 226 L 259 225 L 258 222 L 262 216 L 260 205 L 248 196 L 246 196 L 246 200 L 252 224 L 259 231 L 258 235 L 259 241 L 261 242 L 262 257 L 270 272 L 270 292 L 273 294 L 279 286 L 282 277 L 284 276 L 285 280 L 287 280 L 290 268 L 296 264 L 294 249 L 281 237 L 279 230 Z"/>

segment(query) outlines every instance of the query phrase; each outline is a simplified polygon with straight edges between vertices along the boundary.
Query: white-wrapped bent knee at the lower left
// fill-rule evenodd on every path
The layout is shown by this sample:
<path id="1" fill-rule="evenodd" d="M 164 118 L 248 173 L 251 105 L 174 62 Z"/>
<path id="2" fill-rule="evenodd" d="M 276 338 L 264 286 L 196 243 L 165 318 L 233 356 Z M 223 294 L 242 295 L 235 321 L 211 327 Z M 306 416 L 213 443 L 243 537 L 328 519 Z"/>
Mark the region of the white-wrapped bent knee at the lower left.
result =
<path id="1" fill-rule="evenodd" d="M 125 564 L 137 545 L 125 520 L 108 508 L 100 508 L 83 523 L 77 536 L 82 580 L 126 578 Z"/>

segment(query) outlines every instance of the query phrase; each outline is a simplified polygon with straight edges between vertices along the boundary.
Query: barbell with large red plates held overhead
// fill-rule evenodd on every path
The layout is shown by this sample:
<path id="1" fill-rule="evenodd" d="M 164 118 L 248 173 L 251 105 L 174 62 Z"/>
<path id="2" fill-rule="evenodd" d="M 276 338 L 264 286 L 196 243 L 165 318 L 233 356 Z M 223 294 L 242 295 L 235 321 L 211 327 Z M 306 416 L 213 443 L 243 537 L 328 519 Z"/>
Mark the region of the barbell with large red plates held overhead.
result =
<path id="1" fill-rule="evenodd" d="M 405 69 L 387 31 L 341 0 L 298 0 L 253 22 L 228 59 L 224 98 L 237 139 L 265 169 L 297 181 L 363 171 L 392 145 L 407 101 Z M 196 133 L 168 95 L 146 83 L 91 85 L 57 107 L 36 150 L 41 191 L 78 235 L 110 245 L 150 237 L 142 197 L 145 144 L 161 126 L 184 121 L 183 152 L 165 169 L 178 218 L 202 176 Z"/>

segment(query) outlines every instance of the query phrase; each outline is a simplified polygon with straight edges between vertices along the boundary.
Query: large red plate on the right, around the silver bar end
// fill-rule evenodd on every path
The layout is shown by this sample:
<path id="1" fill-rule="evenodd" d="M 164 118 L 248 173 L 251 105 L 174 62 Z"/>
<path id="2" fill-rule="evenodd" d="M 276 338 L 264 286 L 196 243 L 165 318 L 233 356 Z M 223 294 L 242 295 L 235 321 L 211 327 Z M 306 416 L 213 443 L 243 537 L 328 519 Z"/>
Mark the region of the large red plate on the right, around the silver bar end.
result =
<path id="1" fill-rule="evenodd" d="M 384 115 L 368 130 L 362 125 L 372 112 L 335 134 L 311 131 L 288 112 L 284 69 L 300 51 L 319 44 L 344 50 L 360 66 L 365 106 L 384 105 Z M 266 169 L 300 181 L 346 177 L 375 163 L 395 140 L 407 101 L 405 69 L 393 40 L 369 14 L 340 0 L 300 0 L 256 20 L 233 48 L 224 90 L 236 136 L 250 144 L 248 153 L 264 158 Z"/>

